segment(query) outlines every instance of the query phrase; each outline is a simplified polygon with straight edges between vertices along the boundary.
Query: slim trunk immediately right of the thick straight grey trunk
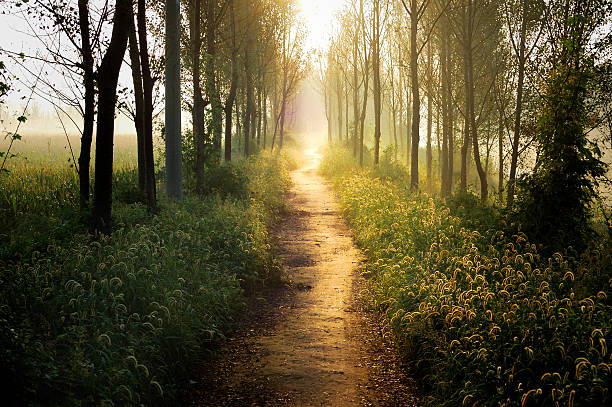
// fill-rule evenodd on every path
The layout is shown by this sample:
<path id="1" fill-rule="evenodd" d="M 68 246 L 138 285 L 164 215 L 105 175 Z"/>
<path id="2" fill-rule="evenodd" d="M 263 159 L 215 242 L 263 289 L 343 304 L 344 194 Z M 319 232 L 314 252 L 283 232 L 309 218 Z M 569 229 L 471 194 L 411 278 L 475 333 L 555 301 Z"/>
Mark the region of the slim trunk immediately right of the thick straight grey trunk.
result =
<path id="1" fill-rule="evenodd" d="M 210 3 L 210 1 L 209 1 Z M 202 21 L 202 0 L 193 0 L 193 15 L 191 16 L 191 77 L 193 80 L 193 107 L 191 120 L 193 122 L 193 141 L 196 148 L 196 192 L 202 193 L 204 188 L 204 98 L 200 85 L 200 50 L 202 49 L 202 32 L 200 24 Z M 207 56 L 208 59 L 208 56 Z M 206 62 L 208 70 L 208 61 Z M 208 72 L 206 73 L 208 84 Z"/>

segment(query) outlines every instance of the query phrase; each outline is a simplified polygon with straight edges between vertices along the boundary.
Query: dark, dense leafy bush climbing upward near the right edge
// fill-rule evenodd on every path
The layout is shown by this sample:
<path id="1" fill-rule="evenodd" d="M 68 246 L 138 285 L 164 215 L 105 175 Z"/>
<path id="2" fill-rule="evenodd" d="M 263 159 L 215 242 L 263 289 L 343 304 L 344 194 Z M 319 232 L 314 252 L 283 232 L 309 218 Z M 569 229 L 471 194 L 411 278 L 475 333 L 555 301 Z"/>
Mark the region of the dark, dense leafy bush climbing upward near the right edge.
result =
<path id="1" fill-rule="evenodd" d="M 570 66 L 553 72 L 541 112 L 538 162 L 518 184 L 517 220 L 547 251 L 571 246 L 581 252 L 594 235 L 591 205 L 606 166 L 585 131 L 591 81 Z"/>

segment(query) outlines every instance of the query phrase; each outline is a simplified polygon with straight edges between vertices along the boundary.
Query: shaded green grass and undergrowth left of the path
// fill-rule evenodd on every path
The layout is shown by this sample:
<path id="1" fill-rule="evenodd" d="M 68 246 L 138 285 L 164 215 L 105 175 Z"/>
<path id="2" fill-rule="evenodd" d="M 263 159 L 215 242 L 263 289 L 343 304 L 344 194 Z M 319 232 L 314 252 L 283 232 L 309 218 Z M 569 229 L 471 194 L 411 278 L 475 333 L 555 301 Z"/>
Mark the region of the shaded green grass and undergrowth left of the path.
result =
<path id="1" fill-rule="evenodd" d="M 245 295 L 278 278 L 268 229 L 284 208 L 284 166 L 261 154 L 209 169 L 208 195 L 155 215 L 133 199 L 135 171 L 118 171 L 114 232 L 98 240 L 77 215 L 73 170 L 12 168 L 0 179 L 4 400 L 176 403 Z"/>

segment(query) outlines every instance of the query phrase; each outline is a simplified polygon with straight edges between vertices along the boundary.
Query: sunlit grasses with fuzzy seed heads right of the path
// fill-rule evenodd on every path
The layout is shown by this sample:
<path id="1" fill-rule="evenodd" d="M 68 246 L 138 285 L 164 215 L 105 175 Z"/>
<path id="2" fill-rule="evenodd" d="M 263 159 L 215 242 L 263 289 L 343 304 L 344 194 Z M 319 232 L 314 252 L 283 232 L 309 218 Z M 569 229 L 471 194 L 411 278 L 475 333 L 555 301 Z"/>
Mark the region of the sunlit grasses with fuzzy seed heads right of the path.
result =
<path id="1" fill-rule="evenodd" d="M 455 198 L 451 211 L 409 194 L 384 176 L 390 165 L 358 171 L 334 150 L 322 171 L 369 258 L 373 304 L 423 378 L 428 404 L 609 405 L 610 242 L 593 243 L 580 261 L 546 258 L 507 232 L 502 215 L 487 221 L 488 209 L 463 206 L 469 198 Z"/>

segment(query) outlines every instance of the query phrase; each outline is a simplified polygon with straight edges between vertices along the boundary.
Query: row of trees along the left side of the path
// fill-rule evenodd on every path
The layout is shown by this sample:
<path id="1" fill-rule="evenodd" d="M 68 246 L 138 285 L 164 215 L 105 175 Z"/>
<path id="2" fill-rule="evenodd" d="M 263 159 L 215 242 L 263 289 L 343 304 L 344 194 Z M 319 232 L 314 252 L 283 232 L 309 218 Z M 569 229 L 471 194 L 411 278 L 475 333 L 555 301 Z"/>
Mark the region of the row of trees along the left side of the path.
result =
<path id="1" fill-rule="evenodd" d="M 5 50 L 30 73 L 30 81 L 23 79 L 24 84 L 56 109 L 67 105 L 80 113 L 80 119 L 71 117 L 81 133 L 77 171 L 83 208 L 90 201 L 96 134 L 96 230 L 108 233 L 111 229 L 117 108 L 134 120 L 139 187 L 149 208 L 156 206 L 154 124 L 162 110 L 160 102 L 178 100 L 179 95 L 170 98 L 173 88 L 163 93 L 160 86 L 164 66 L 166 78 L 173 77 L 175 60 L 182 71 L 182 87 L 177 89 L 182 93 L 182 106 L 166 103 L 166 118 L 179 116 L 181 109 L 192 113 L 196 162 L 189 170 L 195 174 L 198 192 L 203 189 L 205 165 L 221 158 L 223 139 L 227 161 L 232 158 L 233 135 L 238 136 L 245 156 L 255 146 L 282 146 L 286 106 L 307 70 L 303 30 L 293 2 L 187 0 L 181 4 L 179 20 L 169 25 L 164 24 L 166 11 L 176 8 L 178 2 L 13 0 L 11 6 L 45 50 L 42 55 Z M 171 32 L 173 26 L 179 30 L 180 47 L 164 48 L 166 29 Z M 37 62 L 43 64 L 38 75 L 33 68 Z M 130 84 L 119 82 L 124 65 L 131 70 Z M 64 83 L 58 85 L 57 78 Z M 168 120 L 164 129 L 167 138 L 171 131 L 180 132 Z M 180 145 L 170 151 L 168 146 L 173 145 L 167 140 L 166 146 L 167 159 L 180 157 Z"/>

